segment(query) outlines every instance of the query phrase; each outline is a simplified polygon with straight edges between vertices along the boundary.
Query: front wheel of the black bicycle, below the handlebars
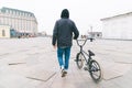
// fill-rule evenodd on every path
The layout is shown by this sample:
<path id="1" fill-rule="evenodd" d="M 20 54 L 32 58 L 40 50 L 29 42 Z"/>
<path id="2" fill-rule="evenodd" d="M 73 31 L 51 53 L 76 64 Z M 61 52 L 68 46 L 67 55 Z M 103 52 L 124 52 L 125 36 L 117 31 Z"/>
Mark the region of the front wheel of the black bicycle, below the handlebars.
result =
<path id="1" fill-rule="evenodd" d="M 77 55 L 76 55 L 76 64 L 77 64 L 77 67 L 79 69 L 82 68 L 82 66 L 84 66 L 84 59 L 85 59 L 85 56 L 82 55 L 82 53 L 77 53 Z"/>

